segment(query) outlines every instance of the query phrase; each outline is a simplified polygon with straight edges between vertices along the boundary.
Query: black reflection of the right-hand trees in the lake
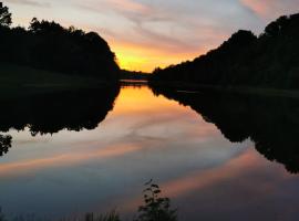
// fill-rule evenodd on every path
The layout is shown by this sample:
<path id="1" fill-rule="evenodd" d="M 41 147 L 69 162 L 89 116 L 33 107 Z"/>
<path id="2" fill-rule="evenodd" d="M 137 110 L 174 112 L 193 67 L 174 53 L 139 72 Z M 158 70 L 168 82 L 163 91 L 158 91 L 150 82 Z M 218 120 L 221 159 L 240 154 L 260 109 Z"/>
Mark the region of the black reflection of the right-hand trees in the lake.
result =
<path id="1" fill-rule="evenodd" d="M 219 128 L 231 143 L 250 138 L 256 149 L 271 161 L 299 172 L 299 101 L 220 93 L 186 93 L 154 88 L 182 105 L 190 106 Z"/>

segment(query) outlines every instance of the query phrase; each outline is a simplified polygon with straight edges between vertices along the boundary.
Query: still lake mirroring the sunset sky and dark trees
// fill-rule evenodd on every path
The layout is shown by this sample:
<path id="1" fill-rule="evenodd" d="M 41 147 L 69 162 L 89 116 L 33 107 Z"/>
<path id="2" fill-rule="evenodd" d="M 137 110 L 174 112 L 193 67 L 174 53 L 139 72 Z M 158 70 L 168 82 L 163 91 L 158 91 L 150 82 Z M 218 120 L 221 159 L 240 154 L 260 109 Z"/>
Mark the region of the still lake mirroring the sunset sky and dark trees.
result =
<path id="1" fill-rule="evenodd" d="M 6 99 L 0 207 L 130 219 L 153 179 L 182 221 L 298 220 L 298 107 L 146 85 Z"/>

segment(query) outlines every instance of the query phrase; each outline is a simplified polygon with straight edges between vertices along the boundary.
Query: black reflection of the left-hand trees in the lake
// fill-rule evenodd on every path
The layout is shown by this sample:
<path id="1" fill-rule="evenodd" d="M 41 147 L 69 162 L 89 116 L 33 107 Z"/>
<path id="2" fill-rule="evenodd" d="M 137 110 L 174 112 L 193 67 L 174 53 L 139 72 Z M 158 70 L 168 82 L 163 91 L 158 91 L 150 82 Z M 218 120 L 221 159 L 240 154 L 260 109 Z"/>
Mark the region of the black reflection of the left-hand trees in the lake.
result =
<path id="1" fill-rule="evenodd" d="M 0 130 L 23 130 L 32 136 L 54 134 L 62 129 L 94 129 L 113 109 L 120 86 L 39 94 L 2 99 Z"/>

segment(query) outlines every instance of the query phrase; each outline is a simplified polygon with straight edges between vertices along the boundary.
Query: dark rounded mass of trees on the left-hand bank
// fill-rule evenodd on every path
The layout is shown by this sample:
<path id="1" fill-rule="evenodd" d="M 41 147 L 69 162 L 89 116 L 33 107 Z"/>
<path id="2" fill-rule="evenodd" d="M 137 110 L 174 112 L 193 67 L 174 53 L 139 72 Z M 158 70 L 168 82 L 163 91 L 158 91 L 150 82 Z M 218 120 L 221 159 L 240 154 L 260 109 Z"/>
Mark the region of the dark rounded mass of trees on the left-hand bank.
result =
<path id="1" fill-rule="evenodd" d="M 29 28 L 11 28 L 9 9 L 0 2 L 0 61 L 69 75 L 118 78 L 115 54 L 97 33 L 33 18 Z"/>

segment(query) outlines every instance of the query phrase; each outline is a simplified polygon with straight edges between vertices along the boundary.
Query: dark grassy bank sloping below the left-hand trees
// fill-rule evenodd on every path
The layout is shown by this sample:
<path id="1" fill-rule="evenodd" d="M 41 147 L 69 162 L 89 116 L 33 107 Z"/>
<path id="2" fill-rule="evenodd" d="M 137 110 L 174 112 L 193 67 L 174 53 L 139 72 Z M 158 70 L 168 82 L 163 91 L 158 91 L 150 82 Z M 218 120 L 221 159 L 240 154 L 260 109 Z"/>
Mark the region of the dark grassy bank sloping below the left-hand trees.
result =
<path id="1" fill-rule="evenodd" d="M 0 93 L 2 97 L 14 97 L 37 93 L 49 93 L 76 88 L 94 88 L 107 85 L 94 77 L 65 75 L 0 63 Z"/>

